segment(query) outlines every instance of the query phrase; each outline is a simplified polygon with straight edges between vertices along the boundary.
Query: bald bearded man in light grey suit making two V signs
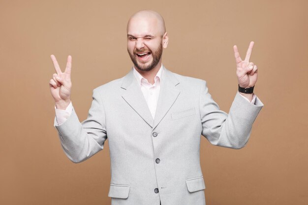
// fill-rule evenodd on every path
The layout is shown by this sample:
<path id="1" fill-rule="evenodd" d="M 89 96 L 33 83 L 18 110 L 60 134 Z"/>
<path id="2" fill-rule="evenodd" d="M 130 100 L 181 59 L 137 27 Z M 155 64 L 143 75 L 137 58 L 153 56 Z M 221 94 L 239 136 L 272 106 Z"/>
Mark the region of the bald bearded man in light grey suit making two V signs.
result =
<path id="1" fill-rule="evenodd" d="M 70 101 L 71 57 L 62 73 L 51 56 L 57 73 L 50 89 L 63 150 L 73 162 L 82 162 L 103 149 L 108 137 L 112 205 L 205 205 L 200 136 L 216 146 L 242 148 L 263 106 L 252 93 L 257 80 L 257 67 L 249 62 L 253 42 L 245 60 L 234 46 L 241 92 L 229 114 L 219 110 L 205 81 L 162 66 L 167 45 L 163 18 L 154 11 L 135 13 L 127 24 L 134 66 L 123 78 L 93 90 L 82 123 Z"/>

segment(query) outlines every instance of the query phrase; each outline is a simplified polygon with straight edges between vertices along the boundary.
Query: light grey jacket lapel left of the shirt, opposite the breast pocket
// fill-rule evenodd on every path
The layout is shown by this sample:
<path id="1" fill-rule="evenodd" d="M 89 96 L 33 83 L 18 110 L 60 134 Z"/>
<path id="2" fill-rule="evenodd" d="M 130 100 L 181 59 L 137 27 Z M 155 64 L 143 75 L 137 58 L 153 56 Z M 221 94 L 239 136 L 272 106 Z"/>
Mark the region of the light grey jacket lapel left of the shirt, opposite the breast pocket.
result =
<path id="1" fill-rule="evenodd" d="M 124 76 L 121 88 L 126 90 L 122 95 L 123 99 L 152 127 L 154 120 L 140 86 L 134 77 L 133 69 Z"/>

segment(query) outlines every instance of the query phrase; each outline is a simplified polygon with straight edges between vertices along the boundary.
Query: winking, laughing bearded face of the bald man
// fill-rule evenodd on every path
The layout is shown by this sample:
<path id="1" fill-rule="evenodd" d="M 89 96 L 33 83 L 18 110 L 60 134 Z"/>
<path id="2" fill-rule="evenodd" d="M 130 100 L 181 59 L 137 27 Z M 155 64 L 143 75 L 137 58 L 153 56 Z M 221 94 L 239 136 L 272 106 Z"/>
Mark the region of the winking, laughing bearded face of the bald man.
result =
<path id="1" fill-rule="evenodd" d="M 127 51 L 136 69 L 160 67 L 167 34 L 161 34 L 155 19 L 132 19 L 127 27 Z"/>

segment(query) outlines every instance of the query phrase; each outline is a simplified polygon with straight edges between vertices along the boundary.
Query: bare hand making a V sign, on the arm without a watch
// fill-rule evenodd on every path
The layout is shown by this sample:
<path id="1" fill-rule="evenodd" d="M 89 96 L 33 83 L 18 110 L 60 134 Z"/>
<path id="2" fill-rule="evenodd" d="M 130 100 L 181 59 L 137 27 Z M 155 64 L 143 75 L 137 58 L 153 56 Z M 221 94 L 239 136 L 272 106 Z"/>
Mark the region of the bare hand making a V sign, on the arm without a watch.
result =
<path id="1" fill-rule="evenodd" d="M 57 73 L 53 74 L 49 81 L 51 95 L 55 100 L 57 109 L 65 110 L 70 103 L 70 94 L 72 82 L 70 80 L 70 72 L 72 67 L 72 57 L 67 57 L 67 63 L 64 73 L 62 73 L 59 63 L 54 55 L 50 56 Z"/>

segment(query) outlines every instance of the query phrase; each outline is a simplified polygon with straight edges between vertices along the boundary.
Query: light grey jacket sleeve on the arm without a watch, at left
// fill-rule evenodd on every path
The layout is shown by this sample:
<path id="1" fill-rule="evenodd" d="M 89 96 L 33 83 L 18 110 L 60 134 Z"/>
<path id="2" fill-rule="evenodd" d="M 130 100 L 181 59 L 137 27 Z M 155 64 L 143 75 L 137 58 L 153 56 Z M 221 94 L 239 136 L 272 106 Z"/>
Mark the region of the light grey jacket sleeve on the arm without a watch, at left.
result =
<path id="1" fill-rule="evenodd" d="M 106 121 L 100 94 L 93 90 L 92 105 L 86 120 L 80 123 L 75 110 L 58 130 L 62 148 L 74 163 L 82 162 L 104 147 L 107 140 Z"/>

